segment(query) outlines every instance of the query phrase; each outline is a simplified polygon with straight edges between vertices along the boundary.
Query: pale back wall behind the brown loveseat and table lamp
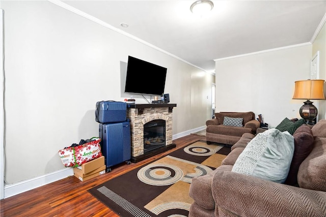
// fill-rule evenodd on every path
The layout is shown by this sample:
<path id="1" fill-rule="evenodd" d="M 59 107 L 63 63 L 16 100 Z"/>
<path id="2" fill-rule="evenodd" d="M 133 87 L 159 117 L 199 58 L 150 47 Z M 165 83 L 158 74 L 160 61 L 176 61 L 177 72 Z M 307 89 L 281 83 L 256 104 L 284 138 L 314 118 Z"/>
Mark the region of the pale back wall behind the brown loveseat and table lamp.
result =
<path id="1" fill-rule="evenodd" d="M 304 45 L 216 61 L 216 111 L 253 111 L 271 127 L 301 118 L 294 81 L 310 79 L 311 51 Z"/>

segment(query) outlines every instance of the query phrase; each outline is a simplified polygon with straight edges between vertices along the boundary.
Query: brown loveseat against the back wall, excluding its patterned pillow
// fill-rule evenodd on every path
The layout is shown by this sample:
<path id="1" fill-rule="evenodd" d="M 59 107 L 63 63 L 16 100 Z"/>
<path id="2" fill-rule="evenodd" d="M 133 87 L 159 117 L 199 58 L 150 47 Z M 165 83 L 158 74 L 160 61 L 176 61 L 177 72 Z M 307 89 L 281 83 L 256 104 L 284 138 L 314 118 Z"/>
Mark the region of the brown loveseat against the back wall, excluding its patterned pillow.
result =
<path id="1" fill-rule="evenodd" d="M 225 117 L 242 118 L 240 127 L 225 125 Z M 256 134 L 260 122 L 255 119 L 254 112 L 219 112 L 215 118 L 206 121 L 206 141 L 234 145 L 244 133 Z"/>

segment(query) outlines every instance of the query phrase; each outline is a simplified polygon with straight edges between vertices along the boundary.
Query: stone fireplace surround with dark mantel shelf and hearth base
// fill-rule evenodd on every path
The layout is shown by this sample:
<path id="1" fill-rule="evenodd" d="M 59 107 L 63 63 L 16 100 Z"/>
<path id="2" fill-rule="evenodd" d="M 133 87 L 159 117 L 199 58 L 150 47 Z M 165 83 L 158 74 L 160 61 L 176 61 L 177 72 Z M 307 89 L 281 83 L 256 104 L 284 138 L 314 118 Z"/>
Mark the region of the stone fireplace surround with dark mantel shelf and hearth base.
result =
<path id="1" fill-rule="evenodd" d="M 127 104 L 127 117 L 130 120 L 131 130 L 131 162 L 150 158 L 158 153 L 176 147 L 172 142 L 173 107 L 177 104 Z M 163 119 L 166 121 L 166 146 L 144 153 L 144 125 L 145 123 Z"/>

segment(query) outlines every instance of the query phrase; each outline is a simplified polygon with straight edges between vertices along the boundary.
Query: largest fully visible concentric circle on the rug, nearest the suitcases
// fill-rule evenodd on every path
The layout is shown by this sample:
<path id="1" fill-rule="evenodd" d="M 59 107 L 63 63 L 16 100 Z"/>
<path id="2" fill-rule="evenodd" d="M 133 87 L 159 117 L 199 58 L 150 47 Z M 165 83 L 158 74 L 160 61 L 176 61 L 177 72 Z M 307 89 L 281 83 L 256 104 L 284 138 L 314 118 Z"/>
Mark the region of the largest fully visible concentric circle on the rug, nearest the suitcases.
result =
<path id="1" fill-rule="evenodd" d="M 179 167 L 169 164 L 150 164 L 141 168 L 137 177 L 139 180 L 150 185 L 170 185 L 183 177 Z"/>

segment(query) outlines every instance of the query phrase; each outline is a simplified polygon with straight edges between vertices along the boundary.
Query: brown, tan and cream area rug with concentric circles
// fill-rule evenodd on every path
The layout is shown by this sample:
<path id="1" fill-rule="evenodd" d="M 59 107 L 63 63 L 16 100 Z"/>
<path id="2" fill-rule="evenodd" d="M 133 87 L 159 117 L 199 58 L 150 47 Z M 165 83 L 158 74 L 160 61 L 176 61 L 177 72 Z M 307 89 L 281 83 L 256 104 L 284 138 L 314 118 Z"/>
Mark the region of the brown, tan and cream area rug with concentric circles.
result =
<path id="1" fill-rule="evenodd" d="M 219 167 L 229 152 L 197 141 L 88 192 L 123 217 L 188 216 L 192 178 Z"/>

